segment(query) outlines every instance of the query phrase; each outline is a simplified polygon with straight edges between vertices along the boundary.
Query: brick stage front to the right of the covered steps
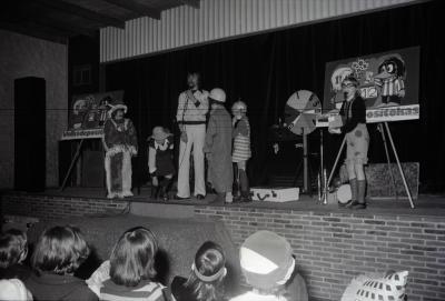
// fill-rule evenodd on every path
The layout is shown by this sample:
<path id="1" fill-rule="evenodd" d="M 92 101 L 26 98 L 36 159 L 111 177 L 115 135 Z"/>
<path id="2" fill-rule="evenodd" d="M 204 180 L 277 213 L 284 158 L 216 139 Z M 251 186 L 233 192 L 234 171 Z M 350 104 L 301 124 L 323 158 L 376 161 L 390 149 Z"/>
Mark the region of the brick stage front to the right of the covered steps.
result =
<path id="1" fill-rule="evenodd" d="M 239 247 L 271 230 L 294 248 L 297 267 L 317 300 L 340 300 L 354 275 L 408 270 L 408 300 L 445 300 L 445 219 L 270 209 L 197 207 L 222 221 Z"/>

